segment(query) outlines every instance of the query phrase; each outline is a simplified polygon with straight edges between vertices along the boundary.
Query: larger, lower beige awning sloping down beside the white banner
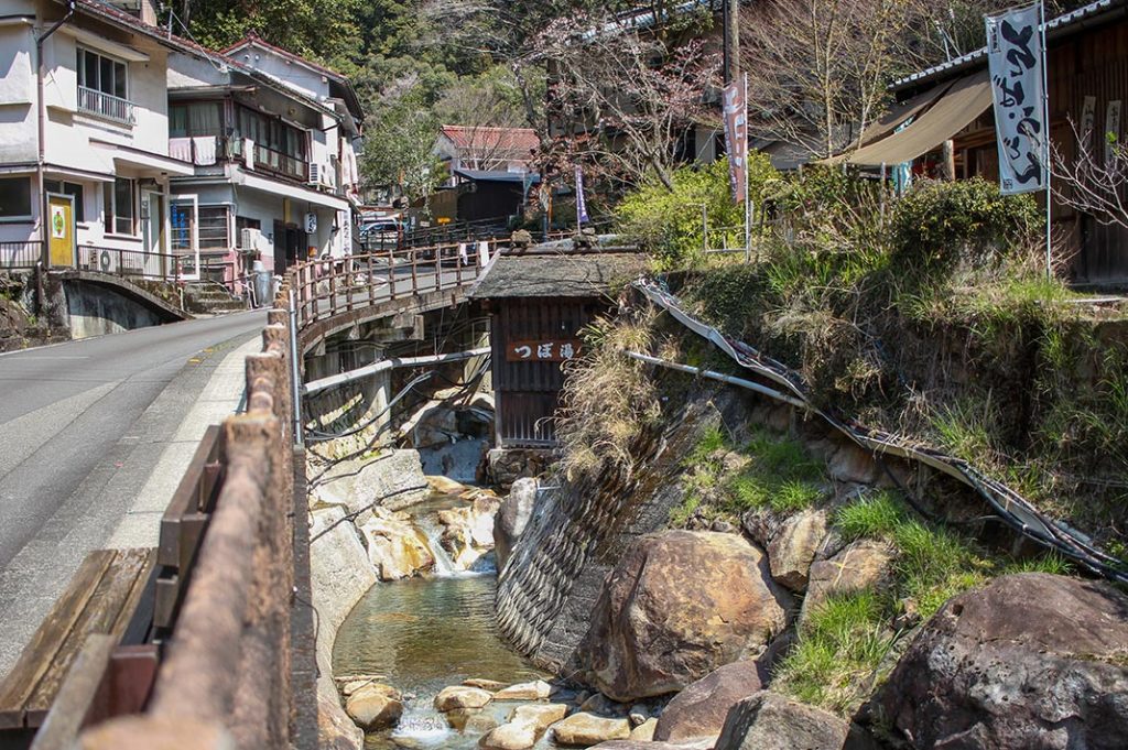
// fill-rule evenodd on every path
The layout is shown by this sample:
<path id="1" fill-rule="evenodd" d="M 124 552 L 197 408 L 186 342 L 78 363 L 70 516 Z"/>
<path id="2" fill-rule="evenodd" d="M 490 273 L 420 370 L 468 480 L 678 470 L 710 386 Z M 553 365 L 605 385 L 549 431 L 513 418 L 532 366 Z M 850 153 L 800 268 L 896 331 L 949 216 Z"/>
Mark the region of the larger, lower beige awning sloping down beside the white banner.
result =
<path id="1" fill-rule="evenodd" d="M 970 125 L 990 105 L 990 79 L 984 70 L 953 83 L 948 94 L 905 130 L 858 149 L 846 161 L 867 167 L 911 161 Z"/>

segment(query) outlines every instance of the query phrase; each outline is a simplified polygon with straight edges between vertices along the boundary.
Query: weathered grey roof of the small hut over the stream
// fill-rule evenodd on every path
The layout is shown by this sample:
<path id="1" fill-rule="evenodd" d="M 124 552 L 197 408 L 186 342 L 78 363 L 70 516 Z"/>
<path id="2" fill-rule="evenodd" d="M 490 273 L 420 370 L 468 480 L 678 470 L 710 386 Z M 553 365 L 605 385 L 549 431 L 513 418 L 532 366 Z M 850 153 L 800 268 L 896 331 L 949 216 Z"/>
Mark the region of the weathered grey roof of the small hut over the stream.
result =
<path id="1" fill-rule="evenodd" d="M 600 297 L 646 270 L 641 253 L 500 255 L 470 290 L 474 299 Z"/>

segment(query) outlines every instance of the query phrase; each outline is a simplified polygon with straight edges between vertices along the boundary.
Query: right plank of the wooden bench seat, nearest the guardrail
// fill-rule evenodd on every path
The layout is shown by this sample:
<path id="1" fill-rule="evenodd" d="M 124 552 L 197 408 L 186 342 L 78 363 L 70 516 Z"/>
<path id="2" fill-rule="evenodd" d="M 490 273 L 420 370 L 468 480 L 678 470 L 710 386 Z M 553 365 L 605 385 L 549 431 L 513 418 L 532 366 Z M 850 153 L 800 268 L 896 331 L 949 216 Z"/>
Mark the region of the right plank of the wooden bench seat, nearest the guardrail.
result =
<path id="1" fill-rule="evenodd" d="M 156 553 L 152 549 L 124 549 L 116 553 L 80 618 L 55 653 L 51 669 L 28 698 L 25 706 L 27 726 L 38 726 L 46 718 L 68 670 L 89 635 L 111 635 L 115 643 L 121 638 L 133 614 L 131 603 L 135 606 L 141 597 L 155 559 Z"/>

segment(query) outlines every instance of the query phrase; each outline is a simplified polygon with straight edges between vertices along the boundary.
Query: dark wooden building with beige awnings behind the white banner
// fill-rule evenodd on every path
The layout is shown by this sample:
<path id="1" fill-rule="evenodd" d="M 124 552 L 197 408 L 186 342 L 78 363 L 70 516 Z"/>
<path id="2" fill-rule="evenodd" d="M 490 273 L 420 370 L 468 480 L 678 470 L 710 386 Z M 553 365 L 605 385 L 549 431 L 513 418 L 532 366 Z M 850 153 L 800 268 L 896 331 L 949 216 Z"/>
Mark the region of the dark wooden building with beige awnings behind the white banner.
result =
<path id="1" fill-rule="evenodd" d="M 1050 19 L 1046 33 L 1055 148 L 1068 162 L 1076 159 L 1076 131 L 1083 130 L 1081 123 L 1086 117 L 1094 123 L 1094 135 L 1111 133 L 1122 142 L 1120 109 L 1128 100 L 1128 0 L 1090 3 Z M 955 178 L 998 179 L 986 47 L 909 76 L 893 90 L 899 106 L 847 161 L 870 168 L 911 161 L 916 174 L 936 176 L 948 168 L 942 151 L 950 141 Z M 906 122 L 907 126 L 893 132 Z M 1093 144 L 1096 153 L 1102 148 L 1099 142 Z M 1061 189 L 1060 184 L 1055 189 Z M 1128 229 L 1104 226 L 1060 201 L 1055 201 L 1051 215 L 1055 254 L 1069 258 L 1067 273 L 1073 283 L 1128 284 Z"/>

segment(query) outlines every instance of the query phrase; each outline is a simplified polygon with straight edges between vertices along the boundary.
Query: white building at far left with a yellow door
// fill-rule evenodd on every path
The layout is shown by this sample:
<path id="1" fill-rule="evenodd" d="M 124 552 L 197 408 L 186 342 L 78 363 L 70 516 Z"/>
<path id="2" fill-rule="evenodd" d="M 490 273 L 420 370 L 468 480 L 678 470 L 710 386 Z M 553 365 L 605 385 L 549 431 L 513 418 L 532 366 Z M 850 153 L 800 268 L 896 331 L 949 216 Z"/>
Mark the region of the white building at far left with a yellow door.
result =
<path id="1" fill-rule="evenodd" d="M 0 244 L 9 257 L 0 262 L 20 246 L 38 255 L 38 242 L 54 266 L 121 261 L 104 249 L 169 250 L 169 180 L 192 174 L 168 156 L 167 61 L 177 48 L 175 37 L 94 0 L 5 0 Z"/>

